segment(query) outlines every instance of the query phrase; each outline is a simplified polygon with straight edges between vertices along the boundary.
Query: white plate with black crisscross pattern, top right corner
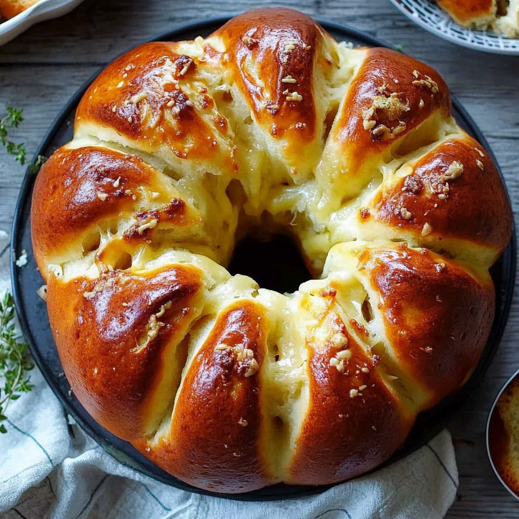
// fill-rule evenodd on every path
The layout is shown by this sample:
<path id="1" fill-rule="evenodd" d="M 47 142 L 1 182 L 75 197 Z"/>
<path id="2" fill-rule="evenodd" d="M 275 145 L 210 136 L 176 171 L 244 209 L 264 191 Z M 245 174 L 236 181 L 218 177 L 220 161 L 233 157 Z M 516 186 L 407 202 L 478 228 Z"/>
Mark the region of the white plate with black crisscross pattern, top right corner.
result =
<path id="1" fill-rule="evenodd" d="M 390 0 L 405 16 L 440 38 L 463 47 L 519 56 L 519 39 L 507 38 L 491 31 L 467 29 L 456 23 L 431 0 Z"/>

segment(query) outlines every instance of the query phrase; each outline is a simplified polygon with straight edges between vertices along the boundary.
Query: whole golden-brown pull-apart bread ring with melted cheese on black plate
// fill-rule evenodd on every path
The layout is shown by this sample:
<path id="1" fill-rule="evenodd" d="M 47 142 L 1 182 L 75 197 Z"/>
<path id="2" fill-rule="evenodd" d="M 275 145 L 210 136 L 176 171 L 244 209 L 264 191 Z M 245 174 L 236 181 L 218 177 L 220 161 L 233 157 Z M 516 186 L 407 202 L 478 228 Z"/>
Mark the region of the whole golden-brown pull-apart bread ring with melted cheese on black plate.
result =
<path id="1" fill-rule="evenodd" d="M 32 204 L 78 400 L 227 493 L 387 459 L 479 360 L 511 225 L 438 73 L 289 9 L 108 65 Z M 230 276 L 257 228 L 289 231 L 316 279 L 282 295 Z"/>

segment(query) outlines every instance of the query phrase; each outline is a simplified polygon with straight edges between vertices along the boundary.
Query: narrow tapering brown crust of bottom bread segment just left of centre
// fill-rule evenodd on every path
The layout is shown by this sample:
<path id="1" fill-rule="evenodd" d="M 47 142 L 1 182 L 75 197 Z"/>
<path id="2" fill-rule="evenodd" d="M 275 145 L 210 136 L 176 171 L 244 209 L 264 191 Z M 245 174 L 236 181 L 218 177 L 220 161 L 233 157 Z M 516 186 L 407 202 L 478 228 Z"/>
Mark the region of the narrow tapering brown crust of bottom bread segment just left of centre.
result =
<path id="1" fill-rule="evenodd" d="M 239 493 L 270 484 L 259 447 L 267 330 L 260 305 L 226 308 L 188 368 L 171 429 L 155 444 L 133 444 L 197 487 Z"/>

